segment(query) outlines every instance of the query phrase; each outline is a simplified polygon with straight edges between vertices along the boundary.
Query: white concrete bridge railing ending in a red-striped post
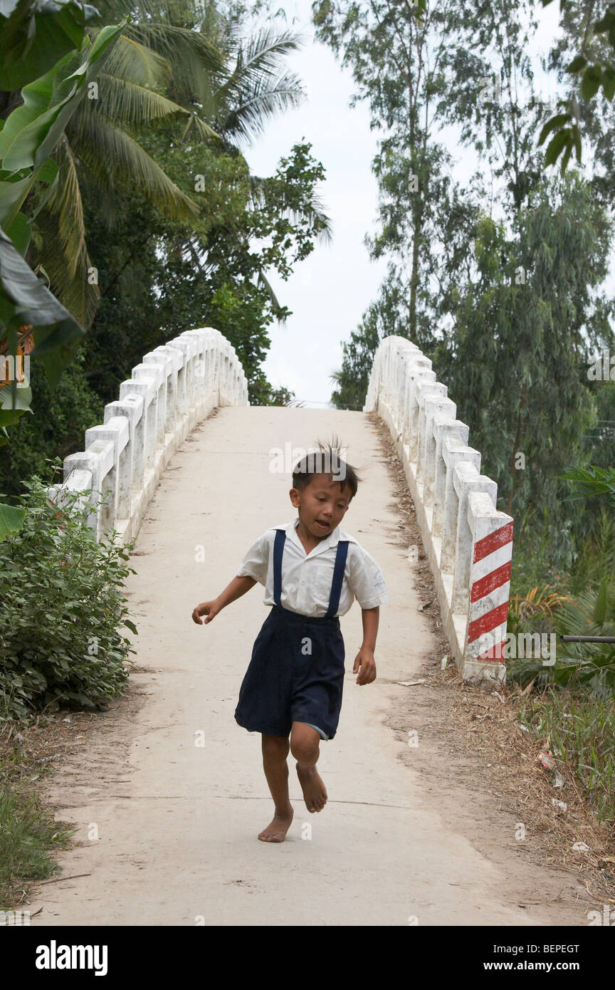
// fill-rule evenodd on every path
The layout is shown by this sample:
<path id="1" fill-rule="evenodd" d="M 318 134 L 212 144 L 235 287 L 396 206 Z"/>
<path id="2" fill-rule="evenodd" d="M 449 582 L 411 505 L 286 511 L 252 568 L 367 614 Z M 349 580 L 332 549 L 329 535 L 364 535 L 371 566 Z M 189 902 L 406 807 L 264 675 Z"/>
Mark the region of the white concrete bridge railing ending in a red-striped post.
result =
<path id="1" fill-rule="evenodd" d="M 364 412 L 387 423 L 403 464 L 444 631 L 466 680 L 503 680 L 513 521 L 431 361 L 405 338 L 376 351 Z"/>

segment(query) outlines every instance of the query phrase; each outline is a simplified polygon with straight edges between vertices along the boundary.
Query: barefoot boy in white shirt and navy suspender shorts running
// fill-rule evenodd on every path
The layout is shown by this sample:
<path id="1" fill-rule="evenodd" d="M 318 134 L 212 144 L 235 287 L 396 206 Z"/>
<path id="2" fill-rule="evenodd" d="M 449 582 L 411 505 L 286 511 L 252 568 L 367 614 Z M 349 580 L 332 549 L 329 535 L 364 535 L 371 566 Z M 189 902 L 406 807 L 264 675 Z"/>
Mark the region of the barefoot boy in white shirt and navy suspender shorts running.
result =
<path id="1" fill-rule="evenodd" d="M 371 684 L 380 605 L 389 601 L 374 558 L 339 529 L 360 479 L 340 460 L 337 446 L 328 451 L 319 446 L 320 452 L 308 454 L 293 470 L 289 494 L 298 517 L 267 530 L 219 597 L 192 614 L 196 623 L 211 622 L 257 581 L 265 586 L 263 601 L 271 612 L 254 642 L 235 710 L 238 725 L 262 736 L 263 768 L 275 805 L 272 821 L 258 836 L 265 842 L 284 841 L 293 821 L 289 748 L 308 811 L 322 811 L 327 799 L 315 764 L 320 739 L 335 736 L 341 708 L 345 650 L 338 617 L 356 597 L 363 644 L 353 673 L 360 671 L 357 684 Z"/>

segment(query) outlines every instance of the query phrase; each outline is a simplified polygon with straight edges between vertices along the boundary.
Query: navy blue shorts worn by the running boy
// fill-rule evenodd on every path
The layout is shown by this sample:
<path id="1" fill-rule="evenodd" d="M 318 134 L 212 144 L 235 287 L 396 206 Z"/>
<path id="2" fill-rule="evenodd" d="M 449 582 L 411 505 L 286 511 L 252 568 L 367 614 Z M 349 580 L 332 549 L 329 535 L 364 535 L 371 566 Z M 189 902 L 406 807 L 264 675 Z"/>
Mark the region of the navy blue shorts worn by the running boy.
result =
<path id="1" fill-rule="evenodd" d="M 333 739 L 344 656 L 337 617 L 312 618 L 272 605 L 252 647 L 235 722 L 266 736 L 290 736 L 294 722 L 308 722 Z"/>

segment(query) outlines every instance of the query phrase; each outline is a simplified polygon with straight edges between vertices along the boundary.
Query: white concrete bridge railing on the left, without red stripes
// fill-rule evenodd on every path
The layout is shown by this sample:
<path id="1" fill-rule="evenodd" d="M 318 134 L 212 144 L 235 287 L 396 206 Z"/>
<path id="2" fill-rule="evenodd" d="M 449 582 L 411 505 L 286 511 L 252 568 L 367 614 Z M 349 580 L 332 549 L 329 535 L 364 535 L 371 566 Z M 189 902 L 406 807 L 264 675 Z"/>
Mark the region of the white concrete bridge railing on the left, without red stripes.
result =
<path id="1" fill-rule="evenodd" d="M 85 432 L 84 449 L 64 458 L 64 476 L 48 489 L 58 506 L 69 491 L 89 490 L 89 525 L 99 540 L 136 535 L 175 448 L 216 406 L 247 406 L 248 389 L 234 347 L 212 327 L 187 330 L 155 347 L 132 368 L 104 423 Z M 97 505 L 97 503 L 100 503 Z"/>

